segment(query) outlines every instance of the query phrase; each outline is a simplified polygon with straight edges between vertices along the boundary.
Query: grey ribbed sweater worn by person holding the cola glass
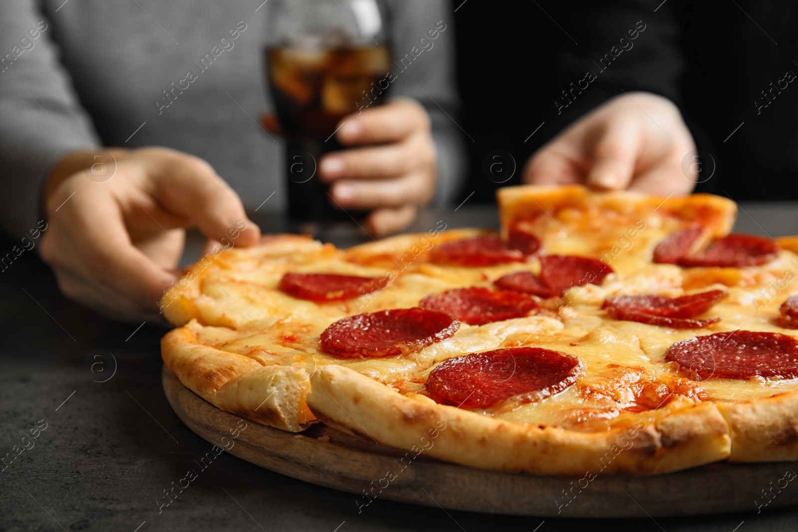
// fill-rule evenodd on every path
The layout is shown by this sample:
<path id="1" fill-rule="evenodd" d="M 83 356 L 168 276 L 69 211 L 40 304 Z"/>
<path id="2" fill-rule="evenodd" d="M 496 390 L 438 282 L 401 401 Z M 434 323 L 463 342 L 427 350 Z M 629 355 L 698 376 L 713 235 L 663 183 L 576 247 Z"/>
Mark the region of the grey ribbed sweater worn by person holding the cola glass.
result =
<path id="1" fill-rule="evenodd" d="M 12 237 L 35 229 L 53 164 L 103 145 L 192 153 L 227 179 L 248 210 L 272 192 L 263 210 L 284 208 L 282 141 L 258 124 L 271 111 L 260 55 L 267 9 L 260 6 L 261 0 L 3 0 L 0 229 Z M 439 22 L 446 26 L 392 84 L 393 97 L 416 98 L 432 116 L 437 201 L 445 203 L 463 171 L 459 130 L 446 114 L 456 106 L 452 12 L 444 0 L 392 6 L 397 57 Z M 188 71 L 196 79 L 175 92 Z M 168 100 L 164 91 L 177 97 Z"/>

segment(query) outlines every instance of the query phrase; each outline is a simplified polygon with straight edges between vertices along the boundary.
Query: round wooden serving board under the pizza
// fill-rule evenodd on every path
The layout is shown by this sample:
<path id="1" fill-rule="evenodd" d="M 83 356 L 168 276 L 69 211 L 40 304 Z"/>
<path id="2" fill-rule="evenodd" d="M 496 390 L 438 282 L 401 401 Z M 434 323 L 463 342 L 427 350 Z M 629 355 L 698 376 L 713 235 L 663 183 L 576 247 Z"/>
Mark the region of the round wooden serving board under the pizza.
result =
<path id="1" fill-rule="evenodd" d="M 163 384 L 169 404 L 188 428 L 210 443 L 230 447 L 231 432 L 243 426 L 240 416 L 203 400 L 165 367 Z M 247 428 L 233 441 L 231 454 L 294 479 L 348 491 L 359 504 L 369 502 L 365 490 L 371 498 L 376 494 L 377 499 L 452 510 L 617 518 L 755 510 L 757 503 L 768 502 L 763 490 L 771 499 L 768 508 L 798 503 L 798 488 L 778 487 L 787 483 L 787 471 L 798 473 L 792 462 L 716 463 L 666 475 L 587 480 L 484 471 L 423 454 L 403 468 L 405 451 L 324 424 L 294 434 L 247 420 Z M 390 481 L 385 480 L 388 471 L 395 474 Z"/>

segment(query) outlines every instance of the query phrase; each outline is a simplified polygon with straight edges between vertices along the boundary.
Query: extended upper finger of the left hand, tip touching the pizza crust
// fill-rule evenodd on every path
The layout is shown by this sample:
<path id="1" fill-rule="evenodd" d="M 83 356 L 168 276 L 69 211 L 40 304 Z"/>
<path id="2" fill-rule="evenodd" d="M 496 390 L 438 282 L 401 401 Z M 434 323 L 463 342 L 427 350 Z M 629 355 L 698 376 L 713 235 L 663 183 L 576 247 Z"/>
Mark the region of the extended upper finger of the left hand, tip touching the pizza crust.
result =
<path id="1" fill-rule="evenodd" d="M 235 191 L 210 164 L 192 156 L 171 156 L 155 168 L 159 190 L 156 199 L 170 211 L 183 215 L 208 238 L 251 246 L 260 238 L 259 227 L 247 218 Z"/>

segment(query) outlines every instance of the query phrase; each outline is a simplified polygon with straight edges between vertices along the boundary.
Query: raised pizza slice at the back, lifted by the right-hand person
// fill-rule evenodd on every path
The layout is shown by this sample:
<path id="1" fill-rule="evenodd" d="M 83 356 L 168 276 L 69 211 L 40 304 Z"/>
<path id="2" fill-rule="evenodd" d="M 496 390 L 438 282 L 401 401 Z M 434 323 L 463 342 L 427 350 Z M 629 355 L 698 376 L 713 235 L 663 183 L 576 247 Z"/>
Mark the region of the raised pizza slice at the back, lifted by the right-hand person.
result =
<path id="1" fill-rule="evenodd" d="M 735 203 L 709 194 L 661 197 L 524 185 L 502 188 L 496 198 L 504 234 L 534 234 L 546 254 L 600 258 L 624 273 L 650 264 L 655 247 L 674 232 L 697 228 L 689 244 L 700 245 L 729 234 L 737 217 Z"/>

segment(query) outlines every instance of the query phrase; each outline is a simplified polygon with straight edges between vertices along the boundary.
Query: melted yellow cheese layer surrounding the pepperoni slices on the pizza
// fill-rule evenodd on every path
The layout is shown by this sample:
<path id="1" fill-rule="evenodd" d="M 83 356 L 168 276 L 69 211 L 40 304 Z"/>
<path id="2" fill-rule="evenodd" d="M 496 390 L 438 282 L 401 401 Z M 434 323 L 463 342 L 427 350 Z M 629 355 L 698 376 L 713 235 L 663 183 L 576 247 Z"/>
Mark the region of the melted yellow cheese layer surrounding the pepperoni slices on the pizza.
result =
<path id="1" fill-rule="evenodd" d="M 452 288 L 489 287 L 496 278 L 518 270 L 538 274 L 539 262 L 480 268 L 440 266 L 429 262 L 431 246 L 422 242 L 421 238 L 426 237 L 418 235 L 402 235 L 389 243 L 377 242 L 346 252 L 330 246 L 302 246 L 268 255 L 234 250 L 223 254 L 214 267 L 194 281 L 199 283 L 199 295 L 192 304 L 204 323 L 235 330 L 200 328 L 200 340 L 264 365 L 285 365 L 302 379 L 308 378 L 318 365 L 346 365 L 419 401 L 430 400 L 425 396 L 424 383 L 440 361 L 508 346 L 555 349 L 579 357 L 582 368 L 576 384 L 535 403 L 508 400 L 483 413 L 509 421 L 555 424 L 576 430 L 611 427 L 630 416 L 626 409 L 641 409 L 641 396 L 646 390 L 654 390 L 654 400 L 661 397 L 663 386 L 666 392 L 673 392 L 662 396 L 666 409 L 695 400 L 745 400 L 798 389 L 798 380 L 691 381 L 665 360 L 670 345 L 697 335 L 747 329 L 798 336 L 798 331 L 780 329 L 772 321 L 788 295 L 798 293 L 795 254 L 784 251 L 776 261 L 756 268 L 685 270 L 650 263 L 654 246 L 681 224 L 673 215 L 634 209 L 597 213 L 566 208 L 524 223 L 535 234 L 544 235 L 547 254 L 602 258 L 615 273 L 607 276 L 602 286 L 567 290 L 562 300 L 547 301 L 546 309 L 536 316 L 481 326 L 463 324 L 447 340 L 396 357 L 342 359 L 319 347 L 324 329 L 342 317 L 417 306 L 421 299 Z M 454 238 L 446 233 L 440 235 L 438 242 Z M 463 233 L 458 238 L 463 238 Z M 436 243 L 434 238 L 428 238 L 428 242 Z M 287 272 L 375 278 L 389 275 L 393 281 L 384 290 L 361 298 L 317 304 L 291 298 L 277 289 Z M 604 299 L 613 295 L 658 293 L 676 297 L 685 290 L 717 287 L 728 287 L 729 298 L 705 314 L 722 317 L 722 321 L 705 329 L 614 321 L 606 318 L 601 309 Z M 648 415 L 654 414 L 641 414 Z"/>

